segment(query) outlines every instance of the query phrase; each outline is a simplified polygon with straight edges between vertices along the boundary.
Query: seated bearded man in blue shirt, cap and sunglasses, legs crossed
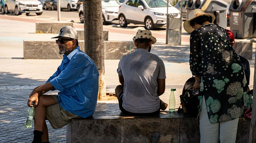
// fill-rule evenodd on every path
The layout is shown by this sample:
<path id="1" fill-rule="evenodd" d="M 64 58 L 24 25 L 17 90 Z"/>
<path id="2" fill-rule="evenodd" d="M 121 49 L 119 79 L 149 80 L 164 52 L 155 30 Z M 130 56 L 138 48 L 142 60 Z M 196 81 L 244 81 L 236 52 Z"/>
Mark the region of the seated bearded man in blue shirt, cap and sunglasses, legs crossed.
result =
<path id="1" fill-rule="evenodd" d="M 59 129 L 74 118 L 92 116 L 99 90 L 99 73 L 93 60 L 80 50 L 76 29 L 63 26 L 56 43 L 63 60 L 47 82 L 36 87 L 28 99 L 28 106 L 35 103 L 34 139 L 32 143 L 49 142 L 45 120 Z M 59 90 L 58 95 L 44 95 L 49 90 Z"/>

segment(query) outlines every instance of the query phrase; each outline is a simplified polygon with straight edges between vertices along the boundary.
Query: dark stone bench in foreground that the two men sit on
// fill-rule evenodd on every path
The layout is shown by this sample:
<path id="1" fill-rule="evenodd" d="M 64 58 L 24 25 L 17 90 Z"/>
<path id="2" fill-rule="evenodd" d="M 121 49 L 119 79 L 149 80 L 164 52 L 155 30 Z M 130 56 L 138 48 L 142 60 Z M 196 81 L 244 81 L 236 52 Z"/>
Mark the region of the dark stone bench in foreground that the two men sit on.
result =
<path id="1" fill-rule="evenodd" d="M 156 117 L 129 117 L 118 109 L 97 110 L 67 125 L 67 143 L 199 143 L 199 120 L 161 111 Z M 248 142 L 251 120 L 239 118 L 236 143 Z"/>

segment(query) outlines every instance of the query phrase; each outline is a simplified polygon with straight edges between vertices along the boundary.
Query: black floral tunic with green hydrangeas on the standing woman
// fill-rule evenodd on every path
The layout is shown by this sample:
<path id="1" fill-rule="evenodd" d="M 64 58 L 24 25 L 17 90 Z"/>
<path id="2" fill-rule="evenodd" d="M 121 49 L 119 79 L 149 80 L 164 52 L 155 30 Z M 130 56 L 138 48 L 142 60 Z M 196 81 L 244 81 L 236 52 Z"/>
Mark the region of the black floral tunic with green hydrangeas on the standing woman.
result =
<path id="1" fill-rule="evenodd" d="M 199 111 L 204 95 L 211 123 L 233 120 L 243 114 L 246 77 L 225 29 L 206 24 L 194 30 L 190 36 L 189 64 L 192 74 L 201 76 Z"/>

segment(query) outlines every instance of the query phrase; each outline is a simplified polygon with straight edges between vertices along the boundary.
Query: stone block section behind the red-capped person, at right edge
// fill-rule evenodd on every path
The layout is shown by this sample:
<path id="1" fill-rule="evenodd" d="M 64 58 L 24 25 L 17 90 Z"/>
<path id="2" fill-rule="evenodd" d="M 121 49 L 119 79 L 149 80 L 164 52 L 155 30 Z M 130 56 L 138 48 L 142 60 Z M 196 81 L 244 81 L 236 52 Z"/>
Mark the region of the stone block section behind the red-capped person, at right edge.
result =
<path id="1" fill-rule="evenodd" d="M 233 47 L 236 50 L 236 53 L 247 58 L 252 59 L 252 42 L 254 40 L 235 40 L 235 46 Z"/>

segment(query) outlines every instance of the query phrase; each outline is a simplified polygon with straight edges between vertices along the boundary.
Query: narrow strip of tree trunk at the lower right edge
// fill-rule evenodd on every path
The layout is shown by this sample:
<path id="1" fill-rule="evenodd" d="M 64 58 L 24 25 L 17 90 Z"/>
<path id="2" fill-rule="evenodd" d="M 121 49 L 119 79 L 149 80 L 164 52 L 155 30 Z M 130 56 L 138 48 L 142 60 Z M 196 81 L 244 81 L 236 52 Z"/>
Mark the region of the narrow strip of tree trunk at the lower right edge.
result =
<path id="1" fill-rule="evenodd" d="M 256 143 L 256 58 L 254 63 L 254 78 L 253 78 L 252 119 L 251 119 L 251 127 L 250 127 L 248 143 Z"/>

